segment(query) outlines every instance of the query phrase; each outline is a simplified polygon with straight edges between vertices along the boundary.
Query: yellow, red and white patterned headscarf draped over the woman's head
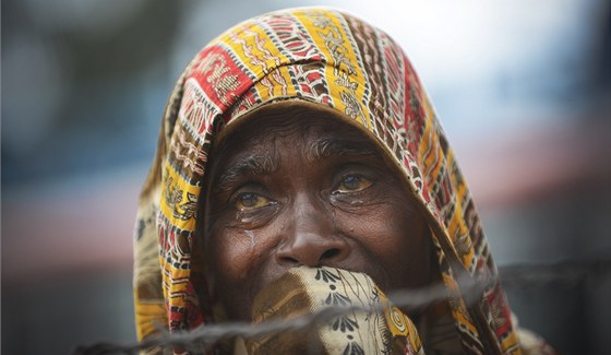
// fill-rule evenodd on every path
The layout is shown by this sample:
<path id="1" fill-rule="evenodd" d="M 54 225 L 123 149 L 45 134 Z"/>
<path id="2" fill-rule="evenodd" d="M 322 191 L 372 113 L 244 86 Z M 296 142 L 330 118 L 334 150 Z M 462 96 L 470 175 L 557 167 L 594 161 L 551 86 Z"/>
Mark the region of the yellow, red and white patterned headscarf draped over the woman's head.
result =
<path id="1" fill-rule="evenodd" d="M 519 354 L 499 284 L 475 301 L 464 295 L 459 280 L 494 280 L 496 269 L 454 152 L 414 68 L 384 32 L 328 9 L 245 21 L 200 51 L 178 81 L 136 223 L 139 339 L 152 335 L 155 323 L 172 332 L 211 319 L 209 301 L 201 297 L 206 294 L 203 257 L 194 248 L 208 150 L 238 117 L 287 99 L 332 108 L 384 146 L 432 230 L 464 352 Z"/>

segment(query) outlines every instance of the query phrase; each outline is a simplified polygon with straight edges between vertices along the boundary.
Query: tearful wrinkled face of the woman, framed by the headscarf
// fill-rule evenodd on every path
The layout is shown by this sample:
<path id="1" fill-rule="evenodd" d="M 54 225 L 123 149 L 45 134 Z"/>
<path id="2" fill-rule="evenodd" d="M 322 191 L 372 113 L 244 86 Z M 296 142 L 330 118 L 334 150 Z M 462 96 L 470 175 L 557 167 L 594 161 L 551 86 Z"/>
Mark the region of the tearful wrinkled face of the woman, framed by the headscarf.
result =
<path id="1" fill-rule="evenodd" d="M 427 225 L 363 132 L 299 108 L 251 117 L 212 152 L 204 215 L 211 287 L 232 320 L 288 269 L 364 272 L 383 291 L 431 279 Z"/>

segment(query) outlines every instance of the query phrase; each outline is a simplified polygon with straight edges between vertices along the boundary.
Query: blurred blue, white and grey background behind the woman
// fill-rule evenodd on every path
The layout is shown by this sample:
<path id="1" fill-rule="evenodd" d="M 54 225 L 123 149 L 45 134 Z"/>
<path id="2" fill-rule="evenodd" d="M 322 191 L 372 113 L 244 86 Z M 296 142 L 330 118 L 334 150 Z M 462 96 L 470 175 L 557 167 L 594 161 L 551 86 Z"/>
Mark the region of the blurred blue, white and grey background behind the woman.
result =
<path id="1" fill-rule="evenodd" d="M 239 21 L 313 4 L 402 44 L 499 265 L 610 258 L 610 1 L 4 0 L 3 354 L 134 341 L 133 221 L 175 80 Z M 611 275 L 586 274 L 510 303 L 563 354 L 611 354 Z"/>

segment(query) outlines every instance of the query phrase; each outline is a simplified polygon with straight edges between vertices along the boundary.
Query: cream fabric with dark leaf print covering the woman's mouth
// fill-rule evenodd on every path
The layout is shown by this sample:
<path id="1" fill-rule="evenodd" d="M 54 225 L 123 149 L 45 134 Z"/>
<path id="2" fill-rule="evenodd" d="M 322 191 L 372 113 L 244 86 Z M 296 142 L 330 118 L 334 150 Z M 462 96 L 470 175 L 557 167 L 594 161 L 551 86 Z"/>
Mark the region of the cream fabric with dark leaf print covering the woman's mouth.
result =
<path id="1" fill-rule="evenodd" d="M 363 273 L 296 268 L 254 299 L 255 323 L 293 319 L 328 307 L 345 310 L 316 329 L 245 341 L 249 354 L 424 354 L 411 320 Z"/>

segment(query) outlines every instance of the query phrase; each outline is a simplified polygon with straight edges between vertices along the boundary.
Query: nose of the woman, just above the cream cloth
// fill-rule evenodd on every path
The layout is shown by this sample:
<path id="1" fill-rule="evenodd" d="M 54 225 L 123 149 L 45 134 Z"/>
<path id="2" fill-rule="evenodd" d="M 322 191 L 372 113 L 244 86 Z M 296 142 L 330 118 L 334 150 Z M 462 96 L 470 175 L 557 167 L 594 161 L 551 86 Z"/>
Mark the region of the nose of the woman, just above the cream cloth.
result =
<path id="1" fill-rule="evenodd" d="M 309 199 L 295 202 L 290 226 L 283 234 L 285 240 L 276 252 L 278 263 L 288 267 L 334 267 L 344 260 L 350 247 L 337 234 L 330 211 Z"/>

